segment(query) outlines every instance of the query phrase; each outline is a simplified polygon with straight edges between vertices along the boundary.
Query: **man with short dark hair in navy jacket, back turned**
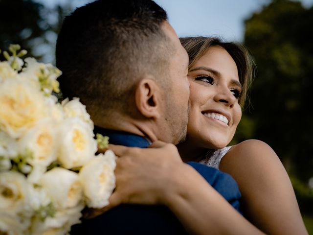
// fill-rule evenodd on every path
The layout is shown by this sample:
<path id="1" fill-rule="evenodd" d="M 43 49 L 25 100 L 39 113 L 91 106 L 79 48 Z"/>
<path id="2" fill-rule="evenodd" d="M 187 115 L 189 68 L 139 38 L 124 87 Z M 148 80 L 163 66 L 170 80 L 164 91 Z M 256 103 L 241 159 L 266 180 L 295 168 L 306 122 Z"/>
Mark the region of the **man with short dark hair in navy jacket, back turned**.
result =
<path id="1" fill-rule="evenodd" d="M 59 81 L 65 96 L 80 97 L 95 132 L 109 136 L 111 143 L 148 147 L 157 140 L 177 144 L 185 138 L 188 55 L 166 12 L 154 1 L 98 0 L 76 9 L 59 34 L 56 64 L 63 71 Z M 201 164 L 183 164 L 180 159 L 165 165 L 170 164 L 173 170 L 197 174 L 200 181 L 201 174 L 238 209 L 240 193 L 230 176 Z M 119 182 L 117 178 L 117 189 Z M 186 233 L 180 212 L 171 208 L 178 220 L 164 206 L 171 197 L 165 194 L 150 193 L 143 202 L 150 205 L 117 206 L 84 220 L 72 233 Z M 142 200 L 134 198 L 128 202 Z"/>

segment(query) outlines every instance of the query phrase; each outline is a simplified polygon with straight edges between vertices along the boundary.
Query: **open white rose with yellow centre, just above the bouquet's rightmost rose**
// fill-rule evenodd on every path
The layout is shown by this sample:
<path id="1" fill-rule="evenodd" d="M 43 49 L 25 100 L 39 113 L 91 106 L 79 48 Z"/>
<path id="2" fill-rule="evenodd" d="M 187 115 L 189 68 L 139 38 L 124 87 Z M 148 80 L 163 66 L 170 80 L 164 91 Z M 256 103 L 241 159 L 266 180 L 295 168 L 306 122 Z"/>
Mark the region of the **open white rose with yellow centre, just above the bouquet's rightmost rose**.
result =
<path id="1" fill-rule="evenodd" d="M 67 118 L 60 126 L 59 161 L 66 168 L 79 167 L 94 157 L 97 143 L 90 126 L 78 117 Z"/>

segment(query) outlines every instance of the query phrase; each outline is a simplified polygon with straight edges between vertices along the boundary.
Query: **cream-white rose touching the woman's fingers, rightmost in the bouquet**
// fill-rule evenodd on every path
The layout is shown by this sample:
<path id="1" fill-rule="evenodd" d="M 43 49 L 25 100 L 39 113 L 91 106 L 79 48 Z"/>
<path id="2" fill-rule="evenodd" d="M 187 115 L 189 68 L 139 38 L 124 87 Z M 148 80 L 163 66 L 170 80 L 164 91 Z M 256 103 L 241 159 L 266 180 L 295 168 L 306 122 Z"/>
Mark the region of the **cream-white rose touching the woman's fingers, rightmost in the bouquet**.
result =
<path id="1" fill-rule="evenodd" d="M 115 188 L 114 169 L 116 156 L 111 150 L 99 154 L 79 172 L 88 207 L 102 208 L 109 204 L 109 197 Z"/>

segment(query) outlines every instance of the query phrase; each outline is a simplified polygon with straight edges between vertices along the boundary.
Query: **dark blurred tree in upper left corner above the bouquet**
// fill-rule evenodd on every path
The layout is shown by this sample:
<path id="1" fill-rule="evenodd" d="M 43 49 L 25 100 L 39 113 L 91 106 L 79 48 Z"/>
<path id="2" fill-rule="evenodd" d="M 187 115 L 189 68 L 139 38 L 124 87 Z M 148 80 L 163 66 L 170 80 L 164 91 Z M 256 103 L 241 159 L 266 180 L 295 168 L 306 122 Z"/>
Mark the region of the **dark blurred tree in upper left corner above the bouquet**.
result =
<path id="1" fill-rule="evenodd" d="M 33 0 L 0 0 L 0 49 L 20 44 L 27 56 L 54 63 L 57 33 L 72 9 L 69 1 L 47 8 Z"/>

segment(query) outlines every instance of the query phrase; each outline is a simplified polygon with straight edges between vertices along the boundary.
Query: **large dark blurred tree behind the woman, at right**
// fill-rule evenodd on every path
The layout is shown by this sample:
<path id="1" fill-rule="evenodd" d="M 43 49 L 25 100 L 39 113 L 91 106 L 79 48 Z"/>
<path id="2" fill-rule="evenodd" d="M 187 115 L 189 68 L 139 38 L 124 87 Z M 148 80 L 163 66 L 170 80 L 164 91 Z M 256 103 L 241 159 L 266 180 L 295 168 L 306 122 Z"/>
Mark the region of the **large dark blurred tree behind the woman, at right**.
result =
<path id="1" fill-rule="evenodd" d="M 306 185 L 313 176 L 312 23 L 313 7 L 291 0 L 272 0 L 245 21 L 245 45 L 258 73 L 253 108 L 245 111 L 236 135 L 237 141 L 267 142 L 290 175 Z"/>

